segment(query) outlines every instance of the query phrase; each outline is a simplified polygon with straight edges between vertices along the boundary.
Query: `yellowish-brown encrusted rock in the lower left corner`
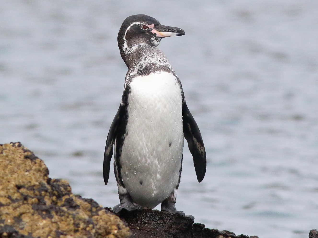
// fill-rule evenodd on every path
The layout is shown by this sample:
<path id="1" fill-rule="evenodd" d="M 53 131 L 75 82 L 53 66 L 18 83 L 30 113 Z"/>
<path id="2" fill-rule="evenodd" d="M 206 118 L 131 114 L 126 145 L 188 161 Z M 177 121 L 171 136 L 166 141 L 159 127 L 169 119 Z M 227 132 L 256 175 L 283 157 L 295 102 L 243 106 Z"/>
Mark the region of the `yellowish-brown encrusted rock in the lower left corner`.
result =
<path id="1" fill-rule="evenodd" d="M 118 216 L 51 179 L 21 143 L 0 145 L 0 237 L 130 237 Z"/>

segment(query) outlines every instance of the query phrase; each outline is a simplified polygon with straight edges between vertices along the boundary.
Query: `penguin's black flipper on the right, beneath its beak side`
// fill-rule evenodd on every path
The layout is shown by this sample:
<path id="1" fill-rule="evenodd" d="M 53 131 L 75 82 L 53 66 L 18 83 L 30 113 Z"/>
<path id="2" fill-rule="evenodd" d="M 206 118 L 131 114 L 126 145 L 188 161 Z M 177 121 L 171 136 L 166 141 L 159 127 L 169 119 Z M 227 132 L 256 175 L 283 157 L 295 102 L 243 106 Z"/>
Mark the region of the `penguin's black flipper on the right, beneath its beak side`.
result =
<path id="1" fill-rule="evenodd" d="M 182 103 L 182 123 L 183 136 L 187 140 L 189 150 L 193 156 L 197 180 L 201 182 L 206 171 L 206 154 L 199 127 L 191 115 L 185 100 Z"/>

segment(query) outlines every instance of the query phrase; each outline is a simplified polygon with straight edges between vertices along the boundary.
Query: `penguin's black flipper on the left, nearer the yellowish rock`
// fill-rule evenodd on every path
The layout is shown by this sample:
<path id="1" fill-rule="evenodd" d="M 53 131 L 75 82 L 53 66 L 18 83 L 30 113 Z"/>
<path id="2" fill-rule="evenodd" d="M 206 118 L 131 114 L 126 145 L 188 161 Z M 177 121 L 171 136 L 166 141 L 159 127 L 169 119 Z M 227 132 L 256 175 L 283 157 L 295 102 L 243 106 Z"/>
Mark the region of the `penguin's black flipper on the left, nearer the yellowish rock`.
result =
<path id="1" fill-rule="evenodd" d="M 122 113 L 123 113 L 123 104 L 119 106 L 119 109 L 114 117 L 112 125 L 110 126 L 106 146 L 105 146 L 105 153 L 104 153 L 104 164 L 103 164 L 103 176 L 105 185 L 107 185 L 108 178 L 109 178 L 109 169 L 110 169 L 110 160 L 113 156 L 113 146 L 117 135 L 117 128 L 121 124 Z"/>

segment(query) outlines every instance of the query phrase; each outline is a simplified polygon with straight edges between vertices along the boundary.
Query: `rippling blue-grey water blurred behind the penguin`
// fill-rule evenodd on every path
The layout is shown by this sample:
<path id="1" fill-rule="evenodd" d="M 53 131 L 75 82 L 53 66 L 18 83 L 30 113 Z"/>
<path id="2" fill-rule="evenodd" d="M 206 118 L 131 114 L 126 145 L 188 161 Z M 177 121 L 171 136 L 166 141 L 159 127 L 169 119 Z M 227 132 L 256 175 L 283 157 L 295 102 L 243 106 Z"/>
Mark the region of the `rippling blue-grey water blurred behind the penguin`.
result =
<path id="1" fill-rule="evenodd" d="M 159 48 L 208 165 L 198 183 L 185 143 L 177 209 L 236 234 L 308 237 L 318 228 L 316 0 L 0 1 L 0 143 L 21 141 L 73 193 L 116 205 L 102 160 L 127 71 L 117 33 L 133 14 L 186 32 Z"/>

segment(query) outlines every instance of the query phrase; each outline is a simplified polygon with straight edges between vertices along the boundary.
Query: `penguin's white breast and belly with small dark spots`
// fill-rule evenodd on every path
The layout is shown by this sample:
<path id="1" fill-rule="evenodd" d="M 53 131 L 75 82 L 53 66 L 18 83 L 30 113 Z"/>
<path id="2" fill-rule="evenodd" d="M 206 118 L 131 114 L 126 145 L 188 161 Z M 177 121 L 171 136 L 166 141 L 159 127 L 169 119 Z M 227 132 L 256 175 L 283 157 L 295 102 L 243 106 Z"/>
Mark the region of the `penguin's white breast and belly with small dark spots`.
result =
<path id="1" fill-rule="evenodd" d="M 129 84 L 121 175 L 135 202 L 154 208 L 176 187 L 183 154 L 182 91 L 168 72 Z"/>

